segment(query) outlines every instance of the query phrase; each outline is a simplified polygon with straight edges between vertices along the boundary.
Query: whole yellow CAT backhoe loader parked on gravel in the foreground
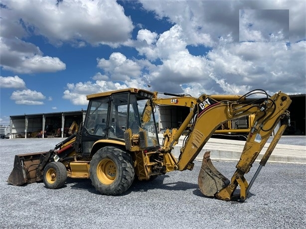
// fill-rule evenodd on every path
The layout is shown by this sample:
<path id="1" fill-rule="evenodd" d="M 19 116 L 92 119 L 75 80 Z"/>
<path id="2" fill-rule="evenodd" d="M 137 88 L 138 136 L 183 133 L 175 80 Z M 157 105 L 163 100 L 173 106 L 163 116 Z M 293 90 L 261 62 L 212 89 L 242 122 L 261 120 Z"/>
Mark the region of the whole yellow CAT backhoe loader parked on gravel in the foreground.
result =
<path id="1" fill-rule="evenodd" d="M 254 94 L 261 97 L 253 97 Z M 201 95 L 182 125 L 164 132 L 160 145 L 153 113 L 154 96 L 153 92 L 134 88 L 88 95 L 87 114 L 79 131 L 49 151 L 15 155 L 7 182 L 23 185 L 43 181 L 47 188 L 57 189 L 67 177 L 89 178 L 101 194 L 119 195 L 129 189 L 135 177 L 152 180 L 167 172 L 192 170 L 196 156 L 222 123 L 254 114 L 232 178 L 228 180 L 216 170 L 209 152 L 204 154 L 198 176 L 204 196 L 243 201 L 290 123 L 287 109 L 291 100 L 282 92 L 273 96 L 263 90 L 244 96 Z M 175 158 L 171 150 L 191 120 L 193 124 L 180 156 Z M 280 128 L 248 183 L 244 174 L 249 172 L 279 122 Z M 234 195 L 238 186 L 240 193 Z"/>

